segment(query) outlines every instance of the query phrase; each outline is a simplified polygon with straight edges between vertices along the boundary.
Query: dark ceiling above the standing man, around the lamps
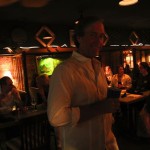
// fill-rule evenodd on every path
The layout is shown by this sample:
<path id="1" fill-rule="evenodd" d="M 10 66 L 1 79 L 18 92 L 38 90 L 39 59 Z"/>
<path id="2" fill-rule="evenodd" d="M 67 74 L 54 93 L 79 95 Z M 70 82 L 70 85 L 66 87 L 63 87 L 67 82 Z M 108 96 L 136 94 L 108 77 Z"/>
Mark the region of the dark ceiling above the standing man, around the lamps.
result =
<path id="1" fill-rule="evenodd" d="M 150 28 L 150 0 L 120 7 L 119 0 L 49 0 L 44 7 L 23 7 L 20 2 L 0 7 L 0 21 L 72 24 L 79 16 L 100 16 L 109 26 Z"/>

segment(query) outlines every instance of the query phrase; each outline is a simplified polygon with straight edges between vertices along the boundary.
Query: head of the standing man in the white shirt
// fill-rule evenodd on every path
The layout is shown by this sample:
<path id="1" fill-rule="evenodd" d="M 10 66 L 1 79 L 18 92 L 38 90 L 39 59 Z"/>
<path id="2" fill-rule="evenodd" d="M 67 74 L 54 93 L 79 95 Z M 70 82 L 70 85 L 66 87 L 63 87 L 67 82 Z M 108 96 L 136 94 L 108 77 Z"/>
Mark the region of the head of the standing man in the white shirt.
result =
<path id="1" fill-rule="evenodd" d="M 78 52 L 88 58 L 99 56 L 103 46 L 105 29 L 101 19 L 86 17 L 79 21 L 75 27 L 74 40 Z"/>

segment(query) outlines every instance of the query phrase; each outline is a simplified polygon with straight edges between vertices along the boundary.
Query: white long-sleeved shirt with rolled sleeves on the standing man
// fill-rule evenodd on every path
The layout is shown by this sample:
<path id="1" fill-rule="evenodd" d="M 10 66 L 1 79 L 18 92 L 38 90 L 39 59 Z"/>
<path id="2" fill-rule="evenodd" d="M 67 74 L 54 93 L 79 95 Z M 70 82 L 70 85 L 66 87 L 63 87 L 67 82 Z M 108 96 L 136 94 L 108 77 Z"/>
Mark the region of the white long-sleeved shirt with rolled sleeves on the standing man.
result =
<path id="1" fill-rule="evenodd" d="M 62 150 L 118 150 L 111 131 L 111 114 L 78 122 L 78 106 L 104 100 L 107 96 L 101 63 L 95 61 L 97 71 L 93 70 L 91 59 L 74 51 L 51 77 L 47 113 L 50 124 L 59 129 Z"/>

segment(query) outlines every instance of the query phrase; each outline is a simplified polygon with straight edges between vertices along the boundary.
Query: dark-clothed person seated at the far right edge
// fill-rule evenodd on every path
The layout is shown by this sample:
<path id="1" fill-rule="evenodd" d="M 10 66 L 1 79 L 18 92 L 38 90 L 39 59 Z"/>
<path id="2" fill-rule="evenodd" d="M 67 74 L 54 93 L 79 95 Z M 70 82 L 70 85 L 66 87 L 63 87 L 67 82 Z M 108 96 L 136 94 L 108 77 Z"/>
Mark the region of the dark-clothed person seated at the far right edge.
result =
<path id="1" fill-rule="evenodd" d="M 144 92 L 150 90 L 150 67 L 148 63 L 141 62 L 139 64 L 140 75 L 135 82 L 134 92 Z"/>

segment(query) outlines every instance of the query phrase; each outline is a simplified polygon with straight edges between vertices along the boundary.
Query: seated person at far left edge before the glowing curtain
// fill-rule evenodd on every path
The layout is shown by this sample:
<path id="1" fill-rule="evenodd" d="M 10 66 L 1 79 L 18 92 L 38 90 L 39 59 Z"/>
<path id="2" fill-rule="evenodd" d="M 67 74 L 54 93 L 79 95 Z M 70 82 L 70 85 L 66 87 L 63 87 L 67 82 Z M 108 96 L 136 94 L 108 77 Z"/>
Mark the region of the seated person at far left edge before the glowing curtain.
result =
<path id="1" fill-rule="evenodd" d="M 0 107 L 5 106 L 22 106 L 20 94 L 8 76 L 4 76 L 0 79 Z"/>

